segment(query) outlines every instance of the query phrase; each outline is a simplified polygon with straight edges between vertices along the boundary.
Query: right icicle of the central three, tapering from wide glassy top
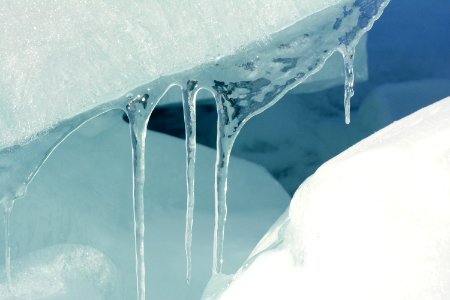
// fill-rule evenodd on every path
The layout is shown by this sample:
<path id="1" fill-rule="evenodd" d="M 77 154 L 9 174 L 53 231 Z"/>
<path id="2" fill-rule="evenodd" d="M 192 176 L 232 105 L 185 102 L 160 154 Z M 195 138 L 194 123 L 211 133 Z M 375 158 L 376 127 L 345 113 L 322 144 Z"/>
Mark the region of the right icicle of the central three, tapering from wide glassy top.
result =
<path id="1" fill-rule="evenodd" d="M 222 103 L 222 95 L 216 95 L 217 105 L 217 152 L 215 167 L 215 201 L 214 201 L 214 252 L 213 252 L 213 274 L 222 272 L 223 245 L 225 238 L 225 223 L 227 221 L 227 181 L 228 165 L 231 149 L 236 134 L 228 133 L 227 115 Z"/>

